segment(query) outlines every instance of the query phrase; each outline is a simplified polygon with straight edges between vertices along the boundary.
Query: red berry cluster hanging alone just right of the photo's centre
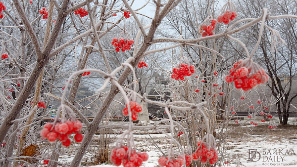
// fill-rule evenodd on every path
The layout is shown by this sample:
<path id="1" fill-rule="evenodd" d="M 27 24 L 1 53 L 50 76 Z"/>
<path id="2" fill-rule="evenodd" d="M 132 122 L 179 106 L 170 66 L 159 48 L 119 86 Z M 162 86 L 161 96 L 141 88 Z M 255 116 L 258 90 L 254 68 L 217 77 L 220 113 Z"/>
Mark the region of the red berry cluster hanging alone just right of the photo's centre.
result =
<path id="1" fill-rule="evenodd" d="M 181 63 L 179 65 L 180 68 L 173 68 L 173 74 L 171 75 L 172 79 L 175 80 L 185 80 L 185 76 L 191 76 L 195 73 L 195 66 L 194 65 L 186 65 L 184 63 Z"/>

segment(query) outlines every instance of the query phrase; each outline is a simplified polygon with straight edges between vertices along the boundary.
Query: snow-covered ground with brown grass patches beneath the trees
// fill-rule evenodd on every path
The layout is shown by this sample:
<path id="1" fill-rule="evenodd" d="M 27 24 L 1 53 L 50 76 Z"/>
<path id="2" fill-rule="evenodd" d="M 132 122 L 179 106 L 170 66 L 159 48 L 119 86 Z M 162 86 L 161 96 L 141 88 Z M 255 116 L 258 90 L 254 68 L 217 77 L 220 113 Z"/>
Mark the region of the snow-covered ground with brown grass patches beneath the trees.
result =
<path id="1" fill-rule="evenodd" d="M 222 145 L 225 154 L 219 156 L 220 164 L 217 164 L 217 167 L 297 167 L 296 118 L 290 118 L 290 125 L 278 126 L 276 129 L 269 129 L 268 126 L 271 124 L 278 125 L 278 120 L 265 123 L 257 121 L 257 126 L 250 125 L 249 122 L 240 125 L 243 123 L 244 121 L 240 121 L 239 124 L 235 124 L 234 121 L 230 123 L 230 129 L 226 130 L 230 134 L 226 138 L 225 145 Z M 240 127 L 238 127 L 239 125 Z M 238 128 L 232 131 L 236 127 Z M 147 152 L 149 155 L 149 159 L 147 162 L 144 162 L 143 167 L 158 167 L 157 160 L 162 154 L 153 145 L 150 136 L 165 154 L 169 148 L 169 138 L 164 134 L 150 134 L 150 136 L 143 133 L 137 134 L 140 132 L 144 131 L 135 130 L 135 145 L 138 151 Z M 149 133 L 153 133 L 153 131 L 150 130 Z M 114 139 L 118 138 L 118 136 L 118 134 L 110 135 Z M 96 138 L 99 138 L 99 135 L 94 136 L 94 139 Z M 75 147 L 78 147 L 78 144 Z M 109 146 L 109 148 L 113 147 L 112 144 Z M 73 153 L 64 152 L 59 161 L 67 165 L 73 159 Z M 86 156 L 88 155 L 91 157 L 92 153 L 86 154 Z M 92 161 L 92 158 L 88 159 L 85 157 L 84 161 L 87 163 Z M 105 163 L 89 167 L 115 166 Z"/>

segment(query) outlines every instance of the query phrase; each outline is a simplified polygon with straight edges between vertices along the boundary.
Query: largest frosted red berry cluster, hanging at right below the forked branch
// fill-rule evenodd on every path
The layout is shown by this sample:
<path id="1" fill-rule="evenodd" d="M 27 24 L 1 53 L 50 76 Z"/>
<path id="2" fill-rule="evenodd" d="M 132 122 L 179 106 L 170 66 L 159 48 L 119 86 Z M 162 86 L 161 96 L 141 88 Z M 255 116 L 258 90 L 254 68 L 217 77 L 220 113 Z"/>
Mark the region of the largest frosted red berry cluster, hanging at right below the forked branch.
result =
<path id="1" fill-rule="evenodd" d="M 254 74 L 250 74 L 251 70 L 247 67 L 242 65 L 242 67 L 238 67 L 242 62 L 243 60 L 239 60 L 233 64 L 234 68 L 230 69 L 230 75 L 225 77 L 227 83 L 234 82 L 236 88 L 242 88 L 244 91 L 247 91 L 260 83 L 268 81 L 269 76 L 262 68 Z"/>

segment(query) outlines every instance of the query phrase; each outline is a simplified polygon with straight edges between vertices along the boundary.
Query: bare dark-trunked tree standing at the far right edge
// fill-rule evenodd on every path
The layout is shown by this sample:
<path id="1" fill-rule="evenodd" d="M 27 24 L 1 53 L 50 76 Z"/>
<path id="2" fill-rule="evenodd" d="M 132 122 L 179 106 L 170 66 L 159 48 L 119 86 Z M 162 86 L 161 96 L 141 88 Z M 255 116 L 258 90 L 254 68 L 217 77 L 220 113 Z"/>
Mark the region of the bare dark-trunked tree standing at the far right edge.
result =
<path id="1" fill-rule="evenodd" d="M 278 1 L 278 0 L 238 0 L 237 6 L 239 15 L 245 17 L 259 17 L 262 13 L 259 8 L 269 7 L 270 15 L 279 14 L 296 14 L 296 1 Z M 272 95 L 278 100 L 276 108 L 280 124 L 287 125 L 289 118 L 290 104 L 297 96 L 294 90 L 296 84 L 296 55 L 297 55 L 297 36 L 296 27 L 297 22 L 294 19 L 284 18 L 278 20 L 267 21 L 267 26 L 276 29 L 280 33 L 286 45 L 277 45 L 273 47 L 272 42 L 281 42 L 280 39 L 272 39 L 272 34 L 269 29 L 264 30 L 264 38 L 260 42 L 260 47 L 255 53 L 255 59 L 260 64 L 267 68 L 267 74 L 270 81 L 267 83 L 271 90 Z M 250 31 L 246 31 L 244 38 L 239 37 L 241 40 L 248 43 L 255 43 L 260 25 L 251 27 Z M 246 40 L 245 40 L 246 39 Z"/>

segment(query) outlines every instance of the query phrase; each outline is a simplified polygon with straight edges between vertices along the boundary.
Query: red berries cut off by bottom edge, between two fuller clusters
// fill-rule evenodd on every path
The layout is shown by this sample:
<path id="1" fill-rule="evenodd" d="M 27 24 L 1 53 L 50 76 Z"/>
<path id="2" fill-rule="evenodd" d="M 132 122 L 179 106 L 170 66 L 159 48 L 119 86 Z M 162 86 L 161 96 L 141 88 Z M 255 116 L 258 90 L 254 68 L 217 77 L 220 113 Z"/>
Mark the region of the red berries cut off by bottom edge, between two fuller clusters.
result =
<path id="1" fill-rule="evenodd" d="M 185 155 L 186 158 L 186 166 L 190 166 L 192 163 L 192 156 L 191 155 Z M 168 163 L 167 157 L 160 157 L 158 160 L 159 166 L 161 167 L 182 167 L 185 164 L 184 158 L 179 155 L 176 159 L 171 158 Z"/>

